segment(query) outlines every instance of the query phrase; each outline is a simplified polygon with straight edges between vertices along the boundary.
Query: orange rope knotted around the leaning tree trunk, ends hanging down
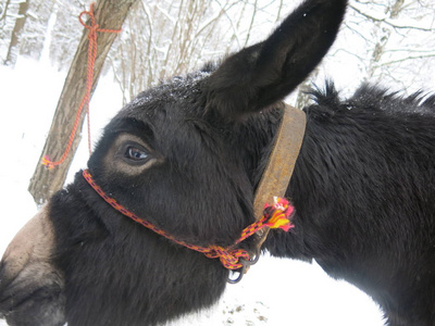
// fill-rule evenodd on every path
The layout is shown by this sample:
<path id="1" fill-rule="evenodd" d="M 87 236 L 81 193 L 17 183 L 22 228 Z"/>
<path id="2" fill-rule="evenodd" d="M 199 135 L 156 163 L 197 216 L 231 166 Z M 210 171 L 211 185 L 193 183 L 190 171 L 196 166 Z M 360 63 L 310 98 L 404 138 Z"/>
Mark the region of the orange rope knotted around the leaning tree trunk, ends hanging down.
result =
<path id="1" fill-rule="evenodd" d="M 99 25 L 96 22 L 95 15 L 94 15 L 94 5 L 95 3 L 90 4 L 89 11 L 84 11 L 79 14 L 78 21 L 80 24 L 88 29 L 88 39 L 89 39 L 89 47 L 88 47 L 88 62 L 87 62 L 87 76 L 86 76 L 86 92 L 85 96 L 82 100 L 80 105 L 78 106 L 77 114 L 75 116 L 75 122 L 73 126 L 73 130 L 71 131 L 70 139 L 66 146 L 65 151 L 63 152 L 61 159 L 59 161 L 51 161 L 48 155 L 45 155 L 42 158 L 42 165 L 47 166 L 47 168 L 51 170 L 54 166 L 61 165 L 67 158 L 71 148 L 74 142 L 75 135 L 78 129 L 79 121 L 80 121 L 80 115 L 82 111 L 84 108 L 86 108 L 86 115 L 87 115 L 87 125 L 88 125 L 88 149 L 89 149 L 89 155 L 91 154 L 91 141 L 90 141 L 90 118 L 89 118 L 89 101 L 90 101 L 90 92 L 92 89 L 92 83 L 94 83 L 94 66 L 95 66 L 95 61 L 97 58 L 97 33 L 121 33 L 121 29 L 107 29 L 107 28 L 99 28 Z M 88 15 L 90 17 L 90 26 L 86 25 L 86 23 L 82 20 L 83 15 Z"/>

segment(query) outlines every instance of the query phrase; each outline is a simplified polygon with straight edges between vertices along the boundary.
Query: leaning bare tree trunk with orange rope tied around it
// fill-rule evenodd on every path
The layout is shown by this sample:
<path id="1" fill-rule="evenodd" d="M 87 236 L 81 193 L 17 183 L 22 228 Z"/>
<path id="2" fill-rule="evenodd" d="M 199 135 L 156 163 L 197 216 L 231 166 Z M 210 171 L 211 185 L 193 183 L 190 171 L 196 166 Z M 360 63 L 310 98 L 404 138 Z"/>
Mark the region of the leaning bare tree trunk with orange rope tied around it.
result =
<path id="1" fill-rule="evenodd" d="M 120 29 L 135 1 L 136 0 L 98 1 L 95 7 L 95 17 L 99 28 Z M 87 24 L 90 25 L 90 22 Z M 105 57 L 115 37 L 116 34 L 113 33 L 98 33 L 98 52 L 95 61 L 91 93 L 94 93 L 97 86 Z M 37 204 L 42 204 L 55 191 L 63 187 L 66 173 L 78 147 L 80 140 L 79 130 L 83 126 L 86 110 L 83 110 L 80 114 L 79 127 L 75 135 L 71 152 L 63 164 L 52 170 L 48 170 L 41 164 L 41 160 L 46 155 L 49 155 L 51 160 L 60 159 L 66 148 L 70 134 L 73 129 L 75 115 L 86 92 L 87 54 L 88 30 L 85 29 L 65 79 L 46 145 L 28 187 L 28 191 L 32 193 Z"/>

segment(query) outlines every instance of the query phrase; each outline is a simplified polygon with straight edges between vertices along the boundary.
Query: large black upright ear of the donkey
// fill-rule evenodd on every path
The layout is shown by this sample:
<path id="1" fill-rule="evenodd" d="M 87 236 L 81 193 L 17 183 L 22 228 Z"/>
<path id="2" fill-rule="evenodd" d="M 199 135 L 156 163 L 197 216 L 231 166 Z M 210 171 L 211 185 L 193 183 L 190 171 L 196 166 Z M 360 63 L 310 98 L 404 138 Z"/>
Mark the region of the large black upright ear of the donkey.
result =
<path id="1" fill-rule="evenodd" d="M 347 0 L 308 0 L 263 42 L 227 58 L 208 78 L 207 109 L 235 118 L 282 100 L 335 40 Z"/>

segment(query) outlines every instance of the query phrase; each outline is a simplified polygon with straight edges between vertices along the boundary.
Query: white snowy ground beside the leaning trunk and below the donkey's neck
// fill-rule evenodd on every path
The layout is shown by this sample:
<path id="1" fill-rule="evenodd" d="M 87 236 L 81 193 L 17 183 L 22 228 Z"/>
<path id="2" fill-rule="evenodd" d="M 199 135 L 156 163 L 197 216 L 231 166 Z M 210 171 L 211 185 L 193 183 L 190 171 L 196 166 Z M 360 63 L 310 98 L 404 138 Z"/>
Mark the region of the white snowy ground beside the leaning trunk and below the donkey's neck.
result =
<path id="1" fill-rule="evenodd" d="M 0 254 L 37 209 L 28 180 L 51 123 L 64 73 L 21 59 L 15 70 L 0 65 Z M 91 103 L 94 139 L 121 108 L 121 93 L 109 78 L 100 80 Z M 72 171 L 86 166 L 79 149 Z M 71 178 L 71 177 L 70 177 Z M 377 306 L 362 292 L 330 278 L 315 264 L 264 256 L 241 284 L 227 287 L 220 303 L 175 325 L 383 325 Z M 4 326 L 0 321 L 0 326 Z"/>

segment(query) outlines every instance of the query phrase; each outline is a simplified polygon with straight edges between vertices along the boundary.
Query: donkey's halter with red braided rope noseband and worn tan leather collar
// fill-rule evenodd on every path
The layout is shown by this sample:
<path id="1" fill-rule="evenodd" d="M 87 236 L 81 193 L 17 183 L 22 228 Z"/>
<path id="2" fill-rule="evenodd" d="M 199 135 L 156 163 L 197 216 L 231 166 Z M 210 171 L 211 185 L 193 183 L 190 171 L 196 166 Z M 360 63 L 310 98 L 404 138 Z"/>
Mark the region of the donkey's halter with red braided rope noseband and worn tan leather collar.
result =
<path id="1" fill-rule="evenodd" d="M 209 259 L 219 258 L 222 265 L 227 269 L 239 269 L 239 276 L 236 279 L 228 279 L 229 283 L 238 283 L 243 275 L 247 272 L 250 265 L 257 263 L 260 255 L 261 244 L 264 242 L 270 228 L 281 228 L 288 231 L 294 225 L 289 221 L 289 216 L 294 213 L 294 206 L 284 198 L 273 197 L 273 204 L 264 204 L 270 202 L 271 195 L 284 196 L 287 189 L 296 159 L 303 139 L 304 131 L 304 114 L 302 111 L 286 105 L 284 116 L 276 136 L 275 146 L 270 155 L 268 166 L 263 173 L 262 179 L 258 187 L 254 200 L 254 213 L 257 222 L 250 224 L 241 233 L 240 237 L 229 247 L 220 247 L 210 244 L 200 247 L 187 243 L 170 235 L 165 230 L 151 224 L 144 217 L 139 217 L 115 199 L 108 196 L 100 186 L 96 184 L 88 170 L 83 172 L 84 178 L 92 187 L 92 189 L 108 202 L 113 209 L 133 221 L 141 224 L 156 234 L 176 242 L 188 249 L 203 253 Z M 295 136 L 296 134 L 296 136 Z M 259 205 L 262 205 L 259 214 Z M 254 234 L 260 234 L 260 241 L 257 244 L 257 250 L 251 254 L 240 248 L 235 248 L 238 243 L 249 238 Z"/>

